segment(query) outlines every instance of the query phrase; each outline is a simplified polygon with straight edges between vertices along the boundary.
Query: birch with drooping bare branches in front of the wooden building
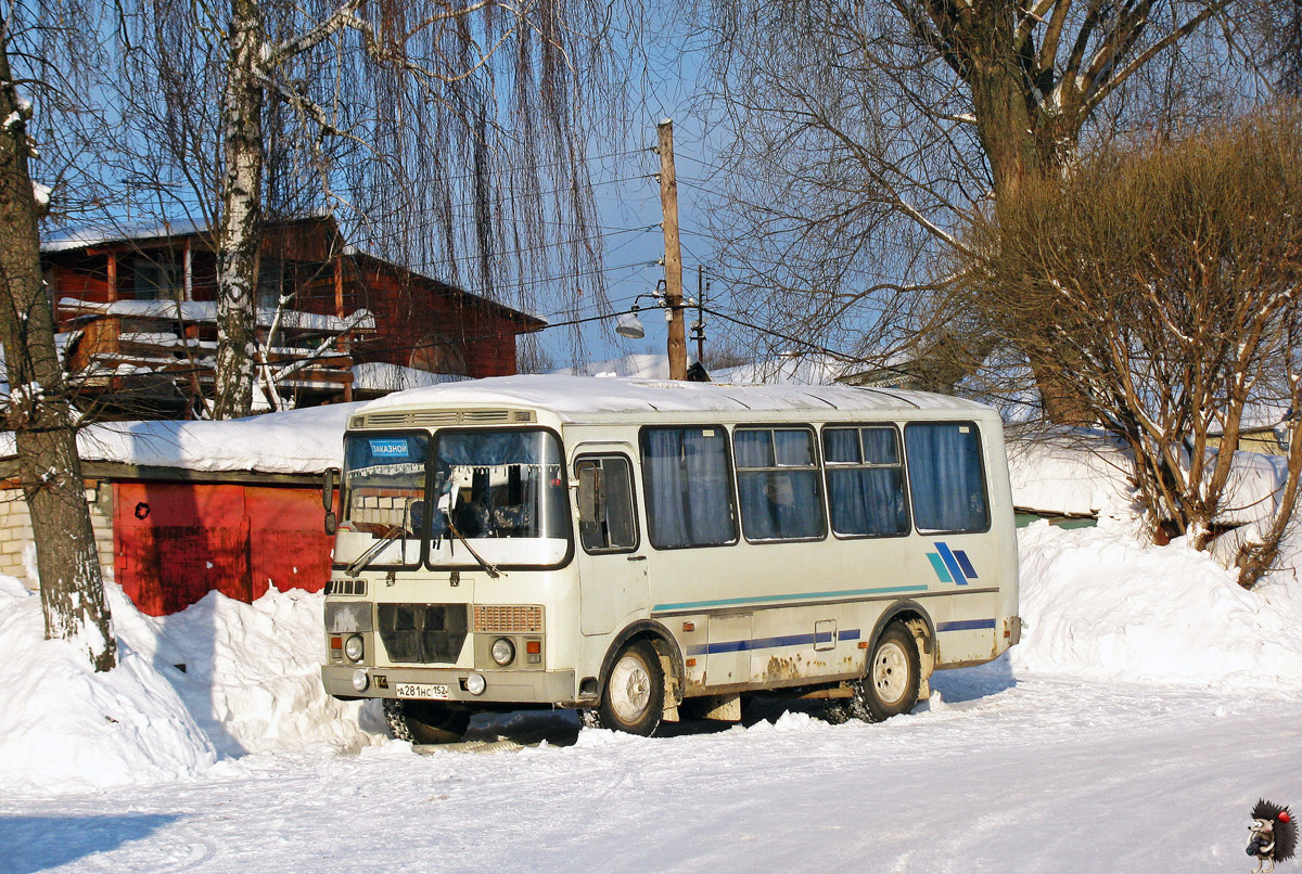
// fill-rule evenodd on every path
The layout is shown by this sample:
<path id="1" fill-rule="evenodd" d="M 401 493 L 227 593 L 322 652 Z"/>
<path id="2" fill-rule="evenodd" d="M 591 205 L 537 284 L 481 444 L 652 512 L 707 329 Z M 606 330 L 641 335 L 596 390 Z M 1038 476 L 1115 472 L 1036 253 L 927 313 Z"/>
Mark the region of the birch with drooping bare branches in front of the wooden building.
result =
<path id="1" fill-rule="evenodd" d="M 590 94 L 618 91 L 595 87 L 611 81 L 608 25 L 592 0 L 130 7 L 142 163 L 217 228 L 214 415 L 250 408 L 268 212 L 329 211 L 352 242 L 504 303 L 527 303 L 544 261 L 603 299 L 582 157 Z"/>

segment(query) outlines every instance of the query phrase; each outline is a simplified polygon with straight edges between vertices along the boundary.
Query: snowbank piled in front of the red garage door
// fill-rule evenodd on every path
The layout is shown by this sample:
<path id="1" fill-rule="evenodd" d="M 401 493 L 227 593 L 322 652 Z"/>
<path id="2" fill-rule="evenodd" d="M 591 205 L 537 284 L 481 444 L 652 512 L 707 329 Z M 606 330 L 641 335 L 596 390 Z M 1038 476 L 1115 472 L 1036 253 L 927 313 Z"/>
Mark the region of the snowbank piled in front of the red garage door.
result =
<path id="1" fill-rule="evenodd" d="M 105 584 L 120 665 L 43 640 L 40 598 L 0 577 L 0 789 L 69 792 L 195 775 L 221 757 L 357 752 L 384 737 L 374 706 L 326 696 L 324 596 L 211 592 L 154 618 Z"/>

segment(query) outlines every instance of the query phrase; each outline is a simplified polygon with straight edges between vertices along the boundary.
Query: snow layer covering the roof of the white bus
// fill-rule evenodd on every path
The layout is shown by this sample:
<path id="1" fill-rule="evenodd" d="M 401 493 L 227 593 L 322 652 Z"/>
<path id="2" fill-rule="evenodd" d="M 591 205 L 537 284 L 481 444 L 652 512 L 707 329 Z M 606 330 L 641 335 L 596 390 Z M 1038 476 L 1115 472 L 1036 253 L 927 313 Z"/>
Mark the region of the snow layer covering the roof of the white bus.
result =
<path id="1" fill-rule="evenodd" d="M 397 391 L 371 401 L 361 412 L 427 406 L 529 406 L 564 417 L 618 412 L 710 412 L 758 410 L 880 411 L 988 410 L 943 394 L 848 385 L 729 385 L 589 376 L 499 376 L 470 382 Z"/>

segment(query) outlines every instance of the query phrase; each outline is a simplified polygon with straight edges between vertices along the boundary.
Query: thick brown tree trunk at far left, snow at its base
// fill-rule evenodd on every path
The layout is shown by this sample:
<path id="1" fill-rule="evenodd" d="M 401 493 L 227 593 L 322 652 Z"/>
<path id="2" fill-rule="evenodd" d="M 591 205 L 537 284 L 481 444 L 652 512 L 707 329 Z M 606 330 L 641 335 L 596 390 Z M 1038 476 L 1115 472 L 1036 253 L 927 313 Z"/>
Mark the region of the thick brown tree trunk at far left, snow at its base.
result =
<path id="1" fill-rule="evenodd" d="M 31 514 L 46 637 L 86 648 L 96 671 L 117 663 L 104 581 L 82 485 L 77 433 L 55 350 L 53 310 L 40 276 L 38 207 L 22 100 L 0 38 L 0 342 L 9 372 L 9 425 Z"/>

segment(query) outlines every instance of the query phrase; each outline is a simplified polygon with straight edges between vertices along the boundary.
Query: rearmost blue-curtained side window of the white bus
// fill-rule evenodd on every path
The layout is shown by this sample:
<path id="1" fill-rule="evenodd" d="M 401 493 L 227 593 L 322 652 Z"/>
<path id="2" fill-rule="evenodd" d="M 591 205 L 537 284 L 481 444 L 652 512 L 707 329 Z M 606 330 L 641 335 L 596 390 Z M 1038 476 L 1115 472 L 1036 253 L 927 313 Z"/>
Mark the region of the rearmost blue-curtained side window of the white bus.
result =
<path id="1" fill-rule="evenodd" d="M 988 531 L 990 506 L 976 424 L 914 421 L 905 425 L 904 445 L 918 531 Z"/>

